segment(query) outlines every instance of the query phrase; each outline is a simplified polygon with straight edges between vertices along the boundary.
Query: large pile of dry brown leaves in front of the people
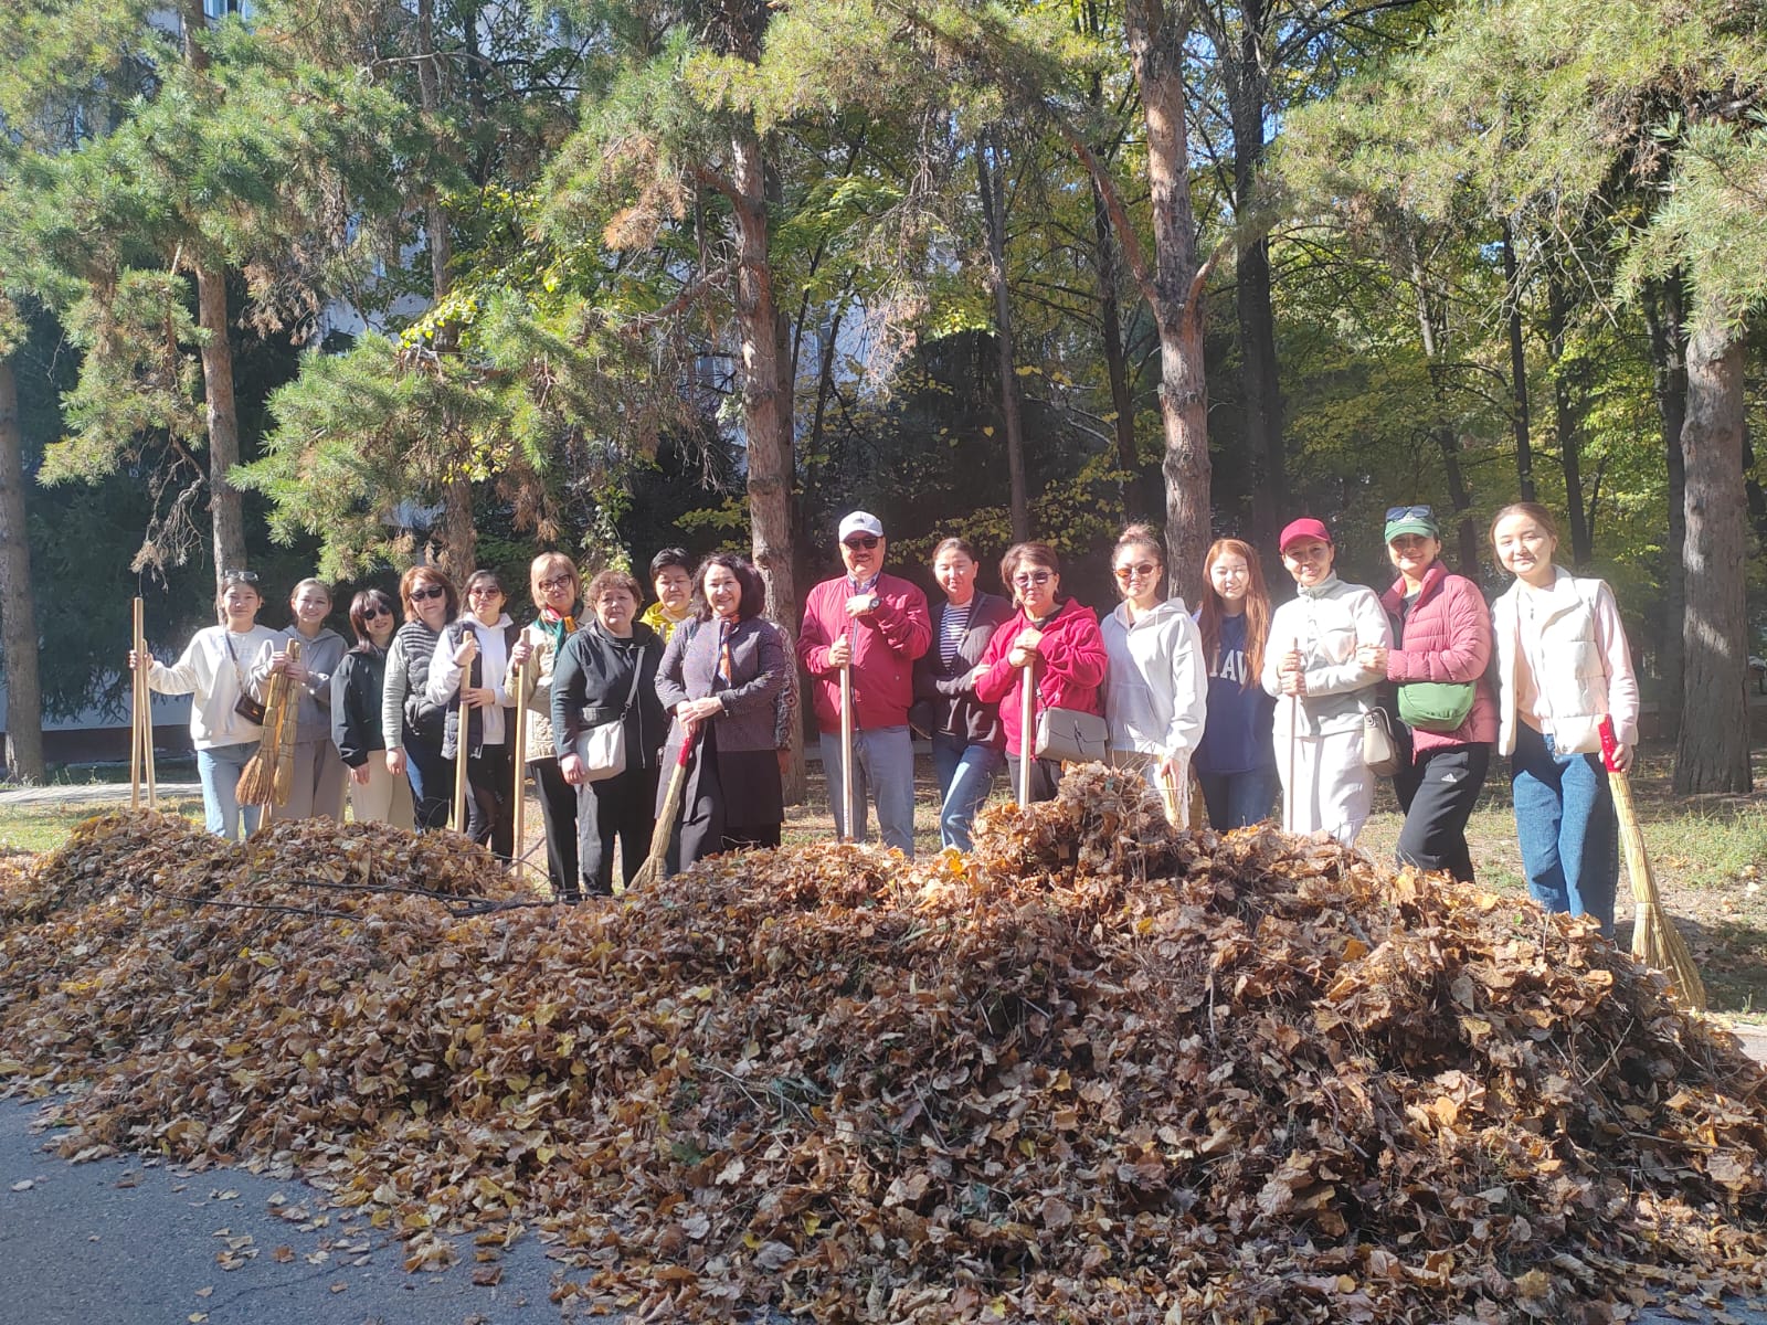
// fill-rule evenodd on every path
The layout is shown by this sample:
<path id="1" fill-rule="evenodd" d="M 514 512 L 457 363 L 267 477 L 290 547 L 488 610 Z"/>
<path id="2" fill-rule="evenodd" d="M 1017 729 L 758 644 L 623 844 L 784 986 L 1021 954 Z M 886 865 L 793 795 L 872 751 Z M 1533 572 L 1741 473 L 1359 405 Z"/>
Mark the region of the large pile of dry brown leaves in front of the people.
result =
<path id="1" fill-rule="evenodd" d="M 451 836 L 85 825 L 0 880 L 0 1071 L 67 1152 L 537 1228 L 673 1320 L 1624 1320 L 1758 1291 L 1767 1090 L 1592 926 L 1103 768 L 974 857 L 555 908 Z M 484 1254 L 484 1253 L 481 1253 Z M 1631 1295 L 1631 1297 L 1629 1297 Z"/>

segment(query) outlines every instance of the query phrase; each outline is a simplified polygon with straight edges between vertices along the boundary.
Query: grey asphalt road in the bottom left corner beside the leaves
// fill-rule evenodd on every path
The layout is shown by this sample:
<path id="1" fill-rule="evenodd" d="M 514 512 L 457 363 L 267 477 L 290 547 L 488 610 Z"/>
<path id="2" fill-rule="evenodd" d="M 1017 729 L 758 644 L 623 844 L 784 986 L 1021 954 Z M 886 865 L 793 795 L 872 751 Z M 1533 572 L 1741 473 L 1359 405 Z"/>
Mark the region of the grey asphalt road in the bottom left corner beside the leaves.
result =
<path id="1" fill-rule="evenodd" d="M 0 1325 L 560 1320 L 558 1267 L 532 1237 L 500 1253 L 497 1286 L 472 1283 L 488 1267 L 470 1240 L 452 1268 L 408 1274 L 398 1240 L 300 1182 L 138 1155 L 71 1164 L 35 1117 L 0 1102 Z"/>

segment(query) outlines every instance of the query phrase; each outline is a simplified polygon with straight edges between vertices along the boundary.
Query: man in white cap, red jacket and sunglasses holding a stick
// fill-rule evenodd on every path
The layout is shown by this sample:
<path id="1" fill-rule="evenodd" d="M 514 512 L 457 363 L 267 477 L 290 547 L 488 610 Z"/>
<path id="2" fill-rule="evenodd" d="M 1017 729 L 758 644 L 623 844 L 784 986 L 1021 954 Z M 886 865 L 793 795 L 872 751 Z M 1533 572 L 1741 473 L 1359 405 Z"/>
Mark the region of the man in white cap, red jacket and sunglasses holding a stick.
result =
<path id="1" fill-rule="evenodd" d="M 926 594 L 901 576 L 884 574 L 884 523 L 868 511 L 841 521 L 845 576 L 823 579 L 804 601 L 797 657 L 813 678 L 822 768 L 834 804 L 834 830 L 864 841 L 866 795 L 878 806 L 885 846 L 914 855 L 914 661 L 933 641 Z M 841 668 L 853 684 L 853 811 L 841 804 Z"/>

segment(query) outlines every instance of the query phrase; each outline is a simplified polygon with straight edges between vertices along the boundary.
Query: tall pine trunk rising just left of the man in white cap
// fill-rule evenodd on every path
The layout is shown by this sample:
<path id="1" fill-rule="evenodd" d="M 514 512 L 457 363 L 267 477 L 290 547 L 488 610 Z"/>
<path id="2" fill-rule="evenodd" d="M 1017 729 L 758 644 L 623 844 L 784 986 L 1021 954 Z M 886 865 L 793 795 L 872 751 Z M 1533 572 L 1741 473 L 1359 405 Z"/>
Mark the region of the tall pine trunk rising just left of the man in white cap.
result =
<path id="1" fill-rule="evenodd" d="M 767 615 L 793 634 L 797 585 L 792 574 L 792 378 L 785 329 L 772 284 L 767 224 L 767 163 L 753 129 L 732 134 L 737 223 L 737 329 L 742 350 L 742 431 L 749 461 L 749 537 L 767 585 Z M 786 795 L 802 799 L 802 730 L 792 731 Z"/>

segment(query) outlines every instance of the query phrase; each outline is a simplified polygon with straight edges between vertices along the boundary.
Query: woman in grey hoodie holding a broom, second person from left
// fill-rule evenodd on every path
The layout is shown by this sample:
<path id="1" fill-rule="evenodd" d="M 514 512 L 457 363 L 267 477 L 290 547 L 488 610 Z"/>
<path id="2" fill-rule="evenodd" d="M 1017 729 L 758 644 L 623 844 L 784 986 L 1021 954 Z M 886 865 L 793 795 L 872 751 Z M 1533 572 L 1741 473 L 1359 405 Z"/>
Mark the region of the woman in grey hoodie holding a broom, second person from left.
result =
<path id="1" fill-rule="evenodd" d="M 279 820 L 343 818 L 343 761 L 330 740 L 330 678 L 343 661 L 343 636 L 325 625 L 330 588 L 302 579 L 288 595 L 293 622 L 274 643 L 258 648 L 251 666 L 251 693 L 263 700 L 270 677 L 283 673 L 295 687 L 295 777 L 288 800 L 274 809 Z M 300 645 L 292 657 L 288 645 Z"/>

